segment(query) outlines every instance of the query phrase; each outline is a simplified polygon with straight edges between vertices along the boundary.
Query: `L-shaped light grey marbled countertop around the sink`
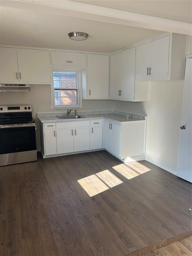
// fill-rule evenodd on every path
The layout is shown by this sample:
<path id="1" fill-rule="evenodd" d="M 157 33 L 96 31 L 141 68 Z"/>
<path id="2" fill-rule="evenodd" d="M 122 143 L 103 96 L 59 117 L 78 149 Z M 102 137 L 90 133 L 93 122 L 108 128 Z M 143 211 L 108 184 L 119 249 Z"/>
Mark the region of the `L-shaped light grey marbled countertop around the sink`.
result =
<path id="1" fill-rule="evenodd" d="M 81 115 L 81 114 L 80 114 Z M 58 113 L 58 116 L 59 113 Z M 78 118 L 78 119 L 58 119 L 56 116 L 38 116 L 38 119 L 41 123 L 49 123 L 49 122 L 69 122 L 69 121 L 83 121 L 83 120 L 92 120 L 92 119 L 105 119 L 111 122 L 121 123 L 121 122 L 130 122 L 130 121 L 141 121 L 141 118 L 135 118 L 129 116 L 129 118 L 126 117 L 126 115 L 120 115 L 120 114 L 89 114 L 89 115 L 82 115 L 85 118 Z"/>

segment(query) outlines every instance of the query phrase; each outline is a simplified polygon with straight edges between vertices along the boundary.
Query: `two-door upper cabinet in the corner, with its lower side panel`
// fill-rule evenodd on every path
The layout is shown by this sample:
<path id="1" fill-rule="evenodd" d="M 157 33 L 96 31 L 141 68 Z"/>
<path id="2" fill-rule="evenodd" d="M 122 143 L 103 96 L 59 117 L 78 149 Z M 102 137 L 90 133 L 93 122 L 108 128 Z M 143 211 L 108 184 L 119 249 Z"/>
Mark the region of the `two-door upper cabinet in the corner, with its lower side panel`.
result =
<path id="1" fill-rule="evenodd" d="M 133 47 L 111 55 L 110 99 L 148 100 L 148 83 L 135 82 L 135 53 L 135 47 Z"/>

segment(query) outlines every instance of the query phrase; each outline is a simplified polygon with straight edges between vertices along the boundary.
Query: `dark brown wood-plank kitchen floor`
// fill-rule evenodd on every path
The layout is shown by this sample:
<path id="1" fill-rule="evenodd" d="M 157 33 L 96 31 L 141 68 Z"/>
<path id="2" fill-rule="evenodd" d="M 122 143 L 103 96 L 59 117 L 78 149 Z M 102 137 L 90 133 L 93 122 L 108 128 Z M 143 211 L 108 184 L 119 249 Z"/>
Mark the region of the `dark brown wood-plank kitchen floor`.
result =
<path id="1" fill-rule="evenodd" d="M 90 197 L 77 180 L 104 170 L 123 183 Z M 0 167 L 0 255 L 123 256 L 189 231 L 189 208 L 191 184 L 149 162 L 39 154 Z"/>

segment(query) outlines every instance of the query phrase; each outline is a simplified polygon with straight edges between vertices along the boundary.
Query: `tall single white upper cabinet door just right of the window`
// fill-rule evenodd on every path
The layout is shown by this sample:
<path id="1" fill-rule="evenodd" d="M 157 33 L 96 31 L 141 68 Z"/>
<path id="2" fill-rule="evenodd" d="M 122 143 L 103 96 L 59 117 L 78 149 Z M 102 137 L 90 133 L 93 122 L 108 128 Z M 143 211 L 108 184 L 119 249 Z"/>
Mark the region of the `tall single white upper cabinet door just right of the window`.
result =
<path id="1" fill-rule="evenodd" d="M 109 97 L 109 55 L 87 54 L 88 98 Z"/>

